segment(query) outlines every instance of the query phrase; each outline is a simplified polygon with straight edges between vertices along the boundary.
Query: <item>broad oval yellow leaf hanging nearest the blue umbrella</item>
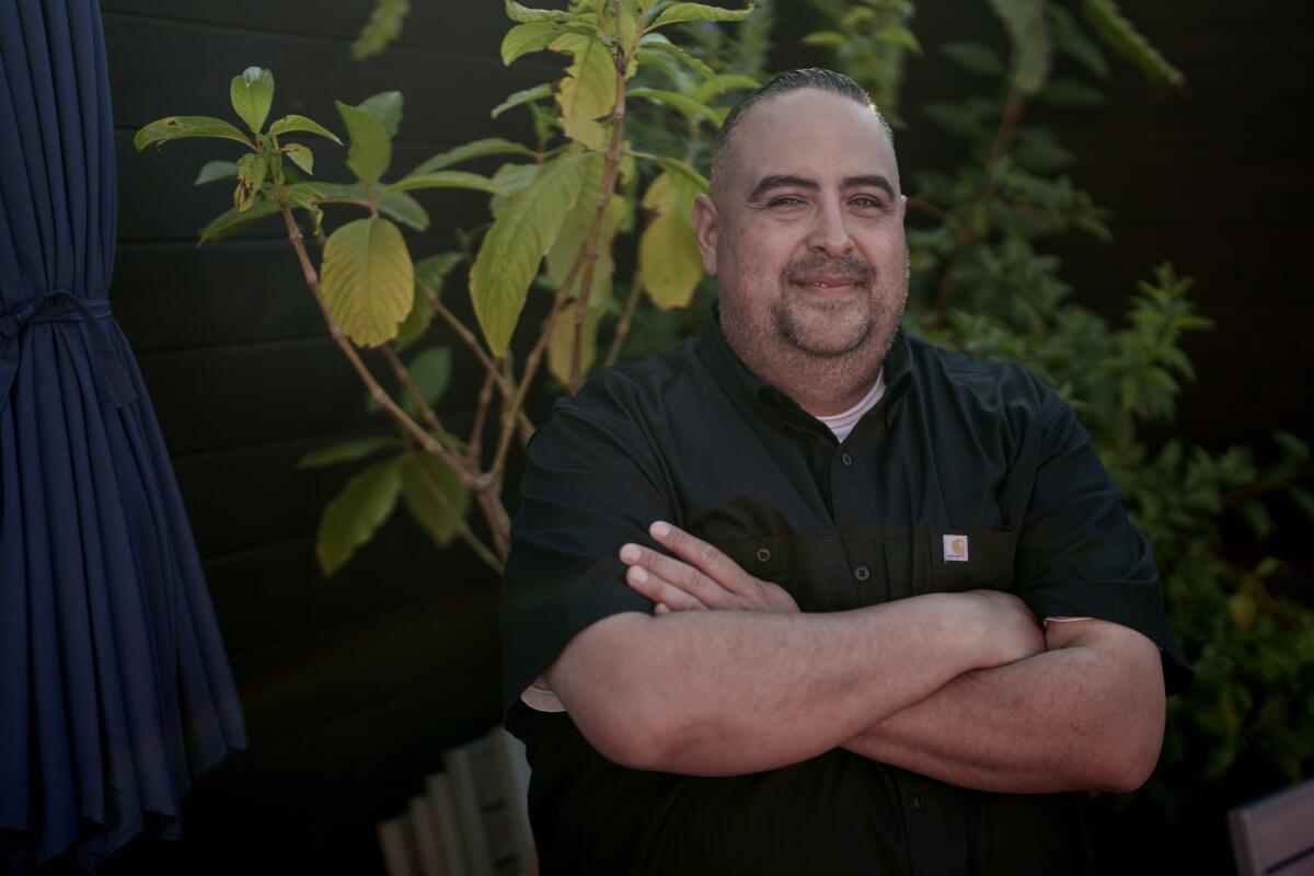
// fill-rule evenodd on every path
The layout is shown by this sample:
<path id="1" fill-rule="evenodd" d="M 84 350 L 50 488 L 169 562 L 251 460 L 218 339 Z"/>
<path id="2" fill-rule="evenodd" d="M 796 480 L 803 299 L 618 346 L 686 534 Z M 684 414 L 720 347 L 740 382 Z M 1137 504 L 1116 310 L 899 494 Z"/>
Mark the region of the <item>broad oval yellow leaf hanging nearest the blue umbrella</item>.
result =
<path id="1" fill-rule="evenodd" d="M 328 313 L 353 341 L 377 347 L 392 340 L 415 296 L 402 232 L 380 217 L 342 226 L 325 244 L 321 286 Z"/>

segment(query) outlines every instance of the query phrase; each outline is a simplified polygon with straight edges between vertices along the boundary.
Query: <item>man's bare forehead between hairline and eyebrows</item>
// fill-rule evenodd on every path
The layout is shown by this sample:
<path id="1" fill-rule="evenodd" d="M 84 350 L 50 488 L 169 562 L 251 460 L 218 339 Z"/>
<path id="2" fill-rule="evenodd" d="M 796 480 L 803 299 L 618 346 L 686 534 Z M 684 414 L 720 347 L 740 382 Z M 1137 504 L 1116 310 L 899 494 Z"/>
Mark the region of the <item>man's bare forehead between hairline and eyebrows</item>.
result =
<path id="1" fill-rule="evenodd" d="M 858 101 L 816 88 L 771 97 L 749 109 L 731 138 L 732 186 L 767 175 L 819 183 L 883 175 L 897 181 L 894 144 L 880 120 Z"/>

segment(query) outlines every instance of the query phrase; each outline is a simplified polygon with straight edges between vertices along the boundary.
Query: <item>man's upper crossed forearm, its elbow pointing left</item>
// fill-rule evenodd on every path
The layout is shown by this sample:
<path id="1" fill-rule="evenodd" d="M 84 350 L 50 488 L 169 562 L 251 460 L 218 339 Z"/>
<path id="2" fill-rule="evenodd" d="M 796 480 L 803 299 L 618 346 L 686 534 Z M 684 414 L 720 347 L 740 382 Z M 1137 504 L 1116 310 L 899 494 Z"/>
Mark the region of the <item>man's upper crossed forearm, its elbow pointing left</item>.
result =
<path id="1" fill-rule="evenodd" d="M 618 616 L 579 633 L 548 680 L 615 760 L 756 772 L 834 749 L 988 663 L 974 650 L 986 636 L 955 599 L 825 615 Z"/>

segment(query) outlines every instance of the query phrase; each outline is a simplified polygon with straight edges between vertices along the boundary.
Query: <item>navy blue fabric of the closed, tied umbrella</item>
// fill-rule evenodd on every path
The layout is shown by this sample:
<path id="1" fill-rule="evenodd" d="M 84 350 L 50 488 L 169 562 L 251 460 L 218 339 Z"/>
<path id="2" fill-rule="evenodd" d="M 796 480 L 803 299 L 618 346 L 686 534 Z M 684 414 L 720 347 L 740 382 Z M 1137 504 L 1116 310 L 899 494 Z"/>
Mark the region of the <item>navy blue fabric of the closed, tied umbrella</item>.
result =
<path id="1" fill-rule="evenodd" d="M 177 834 L 246 745 L 159 426 L 106 292 L 95 0 L 0 0 L 0 872 Z"/>

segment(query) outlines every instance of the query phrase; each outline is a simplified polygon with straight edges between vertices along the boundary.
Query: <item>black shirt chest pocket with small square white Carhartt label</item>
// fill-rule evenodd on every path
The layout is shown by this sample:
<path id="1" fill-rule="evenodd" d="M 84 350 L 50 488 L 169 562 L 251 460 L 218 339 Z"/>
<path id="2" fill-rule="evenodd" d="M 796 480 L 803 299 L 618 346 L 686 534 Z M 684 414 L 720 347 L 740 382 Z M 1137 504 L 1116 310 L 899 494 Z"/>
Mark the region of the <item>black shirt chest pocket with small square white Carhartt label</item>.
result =
<path id="1" fill-rule="evenodd" d="M 900 544 L 901 542 L 901 544 Z M 887 541 L 886 571 L 891 590 L 907 582 L 907 595 L 1013 590 L 1017 537 L 997 529 L 922 529 L 905 540 Z"/>

